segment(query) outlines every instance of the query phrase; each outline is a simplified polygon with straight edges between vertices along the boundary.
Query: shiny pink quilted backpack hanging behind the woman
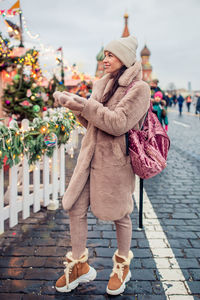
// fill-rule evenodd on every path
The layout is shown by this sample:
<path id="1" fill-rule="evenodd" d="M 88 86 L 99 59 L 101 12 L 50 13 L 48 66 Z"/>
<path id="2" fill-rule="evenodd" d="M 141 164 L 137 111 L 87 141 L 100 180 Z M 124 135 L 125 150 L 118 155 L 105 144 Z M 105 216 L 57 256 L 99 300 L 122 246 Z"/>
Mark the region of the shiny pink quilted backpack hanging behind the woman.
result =
<path id="1" fill-rule="evenodd" d="M 166 167 L 170 140 L 152 111 L 152 104 L 150 104 L 141 130 L 129 130 L 127 139 L 127 150 L 133 172 L 140 178 L 151 178 Z"/>

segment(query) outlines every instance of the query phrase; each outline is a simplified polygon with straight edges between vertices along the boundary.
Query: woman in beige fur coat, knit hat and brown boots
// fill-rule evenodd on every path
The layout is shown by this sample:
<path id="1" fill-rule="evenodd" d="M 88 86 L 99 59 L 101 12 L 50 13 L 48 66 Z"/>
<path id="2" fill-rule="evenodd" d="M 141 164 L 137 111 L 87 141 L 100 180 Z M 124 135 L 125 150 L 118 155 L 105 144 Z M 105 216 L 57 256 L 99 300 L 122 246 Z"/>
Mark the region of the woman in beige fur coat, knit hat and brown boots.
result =
<path id="1" fill-rule="evenodd" d="M 54 94 L 57 105 L 73 110 L 87 128 L 77 165 L 63 197 L 68 210 L 72 252 L 67 253 L 65 274 L 56 282 L 57 291 L 69 292 L 79 283 L 94 280 L 96 271 L 87 264 L 87 211 L 101 220 L 114 221 L 118 250 L 107 293 L 118 295 L 130 280 L 130 251 L 135 175 L 126 155 L 125 133 L 139 129 L 150 105 L 150 89 L 142 81 L 141 63 L 136 61 L 137 40 L 133 36 L 111 41 L 105 47 L 107 73 L 96 81 L 86 100 L 67 92 Z M 127 91 L 134 81 L 134 85 Z"/>

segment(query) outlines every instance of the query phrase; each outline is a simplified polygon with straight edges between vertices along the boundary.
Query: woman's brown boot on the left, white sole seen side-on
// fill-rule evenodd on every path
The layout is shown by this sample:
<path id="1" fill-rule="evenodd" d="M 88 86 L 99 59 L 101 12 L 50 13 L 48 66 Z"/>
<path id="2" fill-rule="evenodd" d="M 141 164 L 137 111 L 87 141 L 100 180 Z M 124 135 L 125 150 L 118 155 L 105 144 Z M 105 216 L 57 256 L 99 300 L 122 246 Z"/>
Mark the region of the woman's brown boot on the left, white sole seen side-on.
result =
<path id="1" fill-rule="evenodd" d="M 75 289 L 79 283 L 89 282 L 96 278 L 96 270 L 87 263 L 88 249 L 85 249 L 79 259 L 74 259 L 72 252 L 68 252 L 66 258 L 67 261 L 64 262 L 66 266 L 65 274 L 56 281 L 56 290 L 58 292 L 68 293 Z"/>

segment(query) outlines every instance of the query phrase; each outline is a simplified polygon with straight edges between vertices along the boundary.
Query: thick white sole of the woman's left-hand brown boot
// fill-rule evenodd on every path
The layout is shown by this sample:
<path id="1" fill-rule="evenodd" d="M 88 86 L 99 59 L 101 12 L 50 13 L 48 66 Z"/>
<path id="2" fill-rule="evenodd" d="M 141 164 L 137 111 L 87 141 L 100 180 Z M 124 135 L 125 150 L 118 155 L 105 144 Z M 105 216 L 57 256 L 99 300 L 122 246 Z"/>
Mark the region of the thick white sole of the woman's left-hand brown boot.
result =
<path id="1" fill-rule="evenodd" d="M 90 267 L 90 270 L 88 273 L 78 277 L 76 280 L 69 283 L 68 286 L 66 286 L 66 285 L 62 286 L 62 287 L 55 286 L 55 288 L 56 288 L 56 291 L 58 291 L 58 292 L 69 293 L 72 290 L 74 290 L 79 285 L 79 283 L 92 281 L 96 278 L 96 276 L 97 276 L 96 270 L 94 268 Z"/>

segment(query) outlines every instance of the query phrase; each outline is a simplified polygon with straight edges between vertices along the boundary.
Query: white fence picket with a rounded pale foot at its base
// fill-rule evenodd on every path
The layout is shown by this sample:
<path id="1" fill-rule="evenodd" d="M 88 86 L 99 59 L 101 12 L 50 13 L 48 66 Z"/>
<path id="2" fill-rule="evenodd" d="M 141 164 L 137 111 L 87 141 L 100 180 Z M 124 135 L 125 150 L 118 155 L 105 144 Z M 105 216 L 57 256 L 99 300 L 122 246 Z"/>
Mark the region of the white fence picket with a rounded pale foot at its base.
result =
<path id="1" fill-rule="evenodd" d="M 51 181 L 52 181 L 52 200 L 48 205 L 49 210 L 56 210 L 59 207 L 58 201 L 58 147 L 56 146 L 53 151 L 52 168 L 51 168 Z"/>

